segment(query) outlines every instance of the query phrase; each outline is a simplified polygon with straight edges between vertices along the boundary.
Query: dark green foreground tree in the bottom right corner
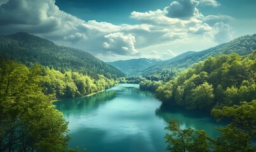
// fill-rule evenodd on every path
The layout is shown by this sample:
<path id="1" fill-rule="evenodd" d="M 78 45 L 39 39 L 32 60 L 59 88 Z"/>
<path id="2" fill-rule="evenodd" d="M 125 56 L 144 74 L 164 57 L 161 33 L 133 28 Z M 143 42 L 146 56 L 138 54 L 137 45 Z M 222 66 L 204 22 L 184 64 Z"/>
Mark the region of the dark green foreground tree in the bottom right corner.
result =
<path id="1" fill-rule="evenodd" d="M 231 124 L 220 127 L 221 136 L 214 141 L 215 151 L 256 151 L 256 100 L 250 103 L 231 107 L 224 106 L 222 110 L 212 110 L 212 115 L 219 118 L 229 118 Z"/>

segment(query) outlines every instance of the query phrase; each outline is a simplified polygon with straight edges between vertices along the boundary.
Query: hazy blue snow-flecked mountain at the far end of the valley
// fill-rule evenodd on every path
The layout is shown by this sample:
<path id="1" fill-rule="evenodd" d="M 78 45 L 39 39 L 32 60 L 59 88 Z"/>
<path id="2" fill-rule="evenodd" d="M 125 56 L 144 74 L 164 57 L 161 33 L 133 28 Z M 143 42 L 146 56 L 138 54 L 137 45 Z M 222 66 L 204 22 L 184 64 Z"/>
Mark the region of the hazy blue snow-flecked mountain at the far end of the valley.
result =
<path id="1" fill-rule="evenodd" d="M 145 70 L 156 63 L 161 63 L 162 60 L 155 58 L 138 58 L 131 60 L 119 60 L 114 62 L 108 62 L 110 65 L 116 66 L 121 72 L 125 72 L 127 75 L 138 75 L 141 70 Z"/>

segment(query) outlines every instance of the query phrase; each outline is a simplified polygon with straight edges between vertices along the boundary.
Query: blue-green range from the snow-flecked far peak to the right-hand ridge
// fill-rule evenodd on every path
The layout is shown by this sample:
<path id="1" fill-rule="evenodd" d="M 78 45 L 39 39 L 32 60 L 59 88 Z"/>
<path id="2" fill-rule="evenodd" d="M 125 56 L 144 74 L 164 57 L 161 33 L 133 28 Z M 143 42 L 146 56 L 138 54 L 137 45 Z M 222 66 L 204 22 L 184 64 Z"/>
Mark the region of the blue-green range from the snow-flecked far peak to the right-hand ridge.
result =
<path id="1" fill-rule="evenodd" d="M 220 54 L 237 53 L 246 55 L 256 49 L 256 34 L 238 37 L 231 42 L 220 44 L 203 51 L 187 51 L 179 54 L 170 60 L 158 60 L 154 58 L 139 58 L 131 60 L 119 60 L 109 62 L 110 65 L 116 66 L 122 72 L 128 75 L 147 75 L 151 73 L 159 73 L 161 70 L 170 68 L 187 68 L 198 61 L 203 61 L 210 56 L 218 56 Z"/>

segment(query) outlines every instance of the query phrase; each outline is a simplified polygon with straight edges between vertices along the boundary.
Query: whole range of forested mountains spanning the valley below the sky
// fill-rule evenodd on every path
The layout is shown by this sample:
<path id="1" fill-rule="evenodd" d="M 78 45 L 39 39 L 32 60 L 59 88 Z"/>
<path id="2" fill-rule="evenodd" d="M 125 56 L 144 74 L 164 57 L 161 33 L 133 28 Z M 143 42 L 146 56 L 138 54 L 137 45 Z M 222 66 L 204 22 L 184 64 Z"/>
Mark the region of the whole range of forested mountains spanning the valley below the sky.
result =
<path id="1" fill-rule="evenodd" d="M 188 51 L 166 61 L 155 58 L 139 58 L 107 64 L 85 51 L 58 46 L 51 41 L 25 32 L 0 35 L 0 56 L 4 56 L 4 58 L 17 60 L 29 66 L 39 63 L 63 72 L 67 70 L 81 72 L 91 77 L 101 74 L 107 78 L 124 77 L 125 73 L 127 75 L 147 75 L 159 73 L 164 69 L 187 68 L 209 56 L 231 53 L 243 56 L 252 53 L 255 49 L 256 34 L 253 34 L 203 51 Z"/>

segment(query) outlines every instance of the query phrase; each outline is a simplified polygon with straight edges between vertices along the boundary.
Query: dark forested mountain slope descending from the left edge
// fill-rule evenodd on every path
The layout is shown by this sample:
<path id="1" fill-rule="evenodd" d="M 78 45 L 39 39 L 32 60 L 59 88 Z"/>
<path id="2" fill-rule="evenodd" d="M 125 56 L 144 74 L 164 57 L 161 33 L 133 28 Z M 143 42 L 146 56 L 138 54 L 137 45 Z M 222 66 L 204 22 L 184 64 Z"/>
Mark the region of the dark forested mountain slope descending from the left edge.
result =
<path id="1" fill-rule="evenodd" d="M 58 46 L 51 41 L 25 32 L 0 35 L 0 55 L 25 65 L 39 63 L 62 72 L 81 72 L 91 77 L 98 74 L 107 78 L 125 76 L 118 68 L 95 56 L 71 47 Z"/>

